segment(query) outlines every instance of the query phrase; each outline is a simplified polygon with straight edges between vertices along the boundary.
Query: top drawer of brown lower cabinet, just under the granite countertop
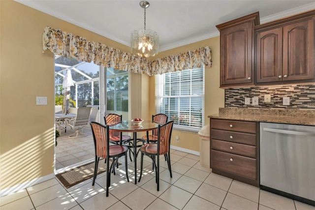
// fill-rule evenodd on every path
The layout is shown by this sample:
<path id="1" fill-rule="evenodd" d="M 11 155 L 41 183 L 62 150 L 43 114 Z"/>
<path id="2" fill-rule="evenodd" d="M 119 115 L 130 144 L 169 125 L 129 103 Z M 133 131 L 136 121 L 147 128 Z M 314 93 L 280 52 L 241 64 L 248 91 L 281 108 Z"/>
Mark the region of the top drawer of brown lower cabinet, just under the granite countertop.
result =
<path id="1" fill-rule="evenodd" d="M 211 119 L 211 128 L 256 134 L 256 122 Z"/>

